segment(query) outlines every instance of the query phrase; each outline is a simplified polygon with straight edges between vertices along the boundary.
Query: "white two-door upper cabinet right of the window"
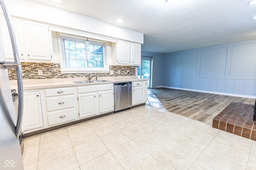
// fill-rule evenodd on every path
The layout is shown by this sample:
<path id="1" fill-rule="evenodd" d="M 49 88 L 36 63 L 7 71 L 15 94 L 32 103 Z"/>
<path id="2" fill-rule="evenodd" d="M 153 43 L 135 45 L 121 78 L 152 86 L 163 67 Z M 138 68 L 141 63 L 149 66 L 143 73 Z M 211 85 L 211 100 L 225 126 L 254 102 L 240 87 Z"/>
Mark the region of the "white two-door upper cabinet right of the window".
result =
<path id="1" fill-rule="evenodd" d="M 141 63 L 141 44 L 118 40 L 111 44 L 112 65 L 135 65 Z"/>

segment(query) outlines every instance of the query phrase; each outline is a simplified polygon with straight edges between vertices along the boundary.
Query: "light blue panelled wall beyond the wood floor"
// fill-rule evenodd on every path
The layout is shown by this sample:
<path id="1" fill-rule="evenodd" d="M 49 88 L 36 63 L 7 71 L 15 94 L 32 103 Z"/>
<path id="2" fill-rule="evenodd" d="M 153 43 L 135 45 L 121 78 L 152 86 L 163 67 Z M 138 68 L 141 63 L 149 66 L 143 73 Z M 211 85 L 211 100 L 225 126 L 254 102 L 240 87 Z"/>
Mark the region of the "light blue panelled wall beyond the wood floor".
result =
<path id="1" fill-rule="evenodd" d="M 256 96 L 256 39 L 166 53 L 157 58 L 162 62 L 161 86 Z"/>

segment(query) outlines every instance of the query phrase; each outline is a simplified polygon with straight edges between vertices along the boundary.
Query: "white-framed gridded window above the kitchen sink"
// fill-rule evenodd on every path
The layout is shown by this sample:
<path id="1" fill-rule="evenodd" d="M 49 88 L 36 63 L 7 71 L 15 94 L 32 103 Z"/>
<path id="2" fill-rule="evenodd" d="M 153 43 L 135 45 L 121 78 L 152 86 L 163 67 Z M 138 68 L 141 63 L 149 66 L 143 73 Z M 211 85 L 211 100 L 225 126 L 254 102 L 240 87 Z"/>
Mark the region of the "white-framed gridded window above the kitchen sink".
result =
<path id="1" fill-rule="evenodd" d="M 62 71 L 106 71 L 104 42 L 91 41 L 85 45 L 84 37 L 60 36 Z"/>

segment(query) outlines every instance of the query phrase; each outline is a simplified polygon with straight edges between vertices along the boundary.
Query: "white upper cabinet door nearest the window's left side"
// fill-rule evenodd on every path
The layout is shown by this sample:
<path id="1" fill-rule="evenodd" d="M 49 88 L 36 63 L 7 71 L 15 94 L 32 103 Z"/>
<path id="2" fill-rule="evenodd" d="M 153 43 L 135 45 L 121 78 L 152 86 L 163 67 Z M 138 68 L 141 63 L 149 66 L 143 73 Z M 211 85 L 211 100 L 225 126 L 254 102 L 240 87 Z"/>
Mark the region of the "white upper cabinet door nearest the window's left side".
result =
<path id="1" fill-rule="evenodd" d="M 51 60 L 48 25 L 24 21 L 28 60 Z"/>

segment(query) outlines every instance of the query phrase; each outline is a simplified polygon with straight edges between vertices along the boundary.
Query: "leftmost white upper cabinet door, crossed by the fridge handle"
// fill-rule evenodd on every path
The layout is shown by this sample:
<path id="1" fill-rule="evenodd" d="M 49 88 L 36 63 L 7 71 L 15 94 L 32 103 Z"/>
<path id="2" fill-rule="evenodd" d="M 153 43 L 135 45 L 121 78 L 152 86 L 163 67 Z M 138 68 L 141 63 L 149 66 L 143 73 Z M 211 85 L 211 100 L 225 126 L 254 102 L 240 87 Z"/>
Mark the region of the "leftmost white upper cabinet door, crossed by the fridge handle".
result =
<path id="1" fill-rule="evenodd" d="M 16 18 L 11 18 L 12 28 L 14 30 L 16 43 L 18 46 L 20 59 L 24 59 L 24 46 L 23 46 L 23 37 L 22 37 L 22 27 L 21 20 Z M 0 16 L 0 25 L 2 31 L 2 38 L 4 41 L 4 53 L 6 59 L 10 59 L 10 61 L 14 61 L 13 51 L 12 51 L 12 43 L 10 39 L 9 30 L 6 24 L 6 20 L 4 16 Z"/>

